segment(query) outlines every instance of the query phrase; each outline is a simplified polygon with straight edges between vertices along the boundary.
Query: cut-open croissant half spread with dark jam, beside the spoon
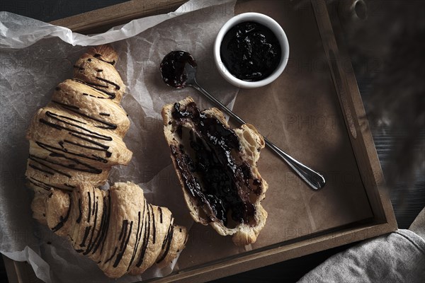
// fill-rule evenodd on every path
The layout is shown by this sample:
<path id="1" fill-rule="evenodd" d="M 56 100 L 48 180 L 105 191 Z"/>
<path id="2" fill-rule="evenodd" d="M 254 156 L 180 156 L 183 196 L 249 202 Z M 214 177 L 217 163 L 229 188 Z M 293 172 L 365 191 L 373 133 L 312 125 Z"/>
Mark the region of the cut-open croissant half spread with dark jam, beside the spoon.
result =
<path id="1" fill-rule="evenodd" d="M 261 134 L 249 124 L 232 129 L 220 110 L 199 110 L 191 97 L 165 105 L 162 117 L 192 218 L 233 235 L 237 246 L 254 243 L 267 219 L 268 184 L 256 166 Z"/>

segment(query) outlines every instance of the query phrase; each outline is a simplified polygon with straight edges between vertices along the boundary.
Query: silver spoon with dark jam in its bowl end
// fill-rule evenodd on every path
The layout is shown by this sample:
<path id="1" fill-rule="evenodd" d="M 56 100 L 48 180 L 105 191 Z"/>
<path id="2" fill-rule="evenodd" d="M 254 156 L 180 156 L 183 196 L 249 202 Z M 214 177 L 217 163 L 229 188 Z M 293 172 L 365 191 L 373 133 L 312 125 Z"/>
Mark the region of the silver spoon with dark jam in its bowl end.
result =
<path id="1" fill-rule="evenodd" d="M 162 79 L 167 85 L 173 88 L 185 88 L 186 86 L 196 88 L 205 98 L 208 98 L 227 115 L 240 124 L 246 124 L 244 120 L 199 86 L 196 81 L 196 62 L 190 53 L 181 50 L 169 52 L 169 54 L 166 54 L 164 59 L 162 59 L 159 69 L 161 70 Z M 288 163 L 288 165 L 293 168 L 293 171 L 295 171 L 302 180 L 305 180 L 305 183 L 310 185 L 310 187 L 314 190 L 319 190 L 324 187 L 326 180 L 324 180 L 323 175 L 308 168 L 300 163 L 300 161 L 295 160 L 295 158 L 286 154 L 282 149 L 279 149 L 278 146 L 274 145 L 266 137 L 263 137 L 263 139 L 266 141 L 266 145 Z"/>

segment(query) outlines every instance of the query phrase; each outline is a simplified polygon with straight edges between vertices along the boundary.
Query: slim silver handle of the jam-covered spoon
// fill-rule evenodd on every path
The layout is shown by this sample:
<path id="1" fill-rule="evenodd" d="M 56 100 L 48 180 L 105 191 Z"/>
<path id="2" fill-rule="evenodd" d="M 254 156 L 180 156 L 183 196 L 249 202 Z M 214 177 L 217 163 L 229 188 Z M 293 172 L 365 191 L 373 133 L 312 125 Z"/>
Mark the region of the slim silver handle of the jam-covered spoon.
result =
<path id="1" fill-rule="evenodd" d="M 200 87 L 196 81 L 194 83 L 191 83 L 190 86 L 200 91 L 200 93 L 202 93 L 206 98 L 208 98 L 212 103 L 217 105 L 221 110 L 223 110 L 223 112 L 225 112 L 227 115 L 232 117 L 234 120 L 236 120 L 240 124 L 246 124 L 244 120 L 242 120 L 238 115 L 234 114 L 234 112 L 229 110 L 229 108 L 227 108 L 214 96 L 211 96 L 210 93 L 208 93 L 208 91 L 205 91 L 205 89 Z M 278 146 L 273 144 L 266 137 L 263 137 L 263 139 L 266 142 L 266 145 L 272 151 L 274 151 L 280 158 L 282 158 L 286 163 L 288 163 L 290 168 L 293 168 L 293 171 L 295 171 L 295 173 L 297 173 L 300 176 L 300 178 L 302 178 L 302 180 L 304 180 L 305 183 L 307 183 L 307 185 L 310 185 L 310 187 L 312 187 L 314 190 L 319 190 L 322 187 L 324 187 L 326 180 L 324 180 L 323 175 L 308 168 L 307 166 L 300 163 L 300 161 L 297 161 L 295 158 L 293 158 L 289 154 L 286 154 L 285 151 L 283 151 L 282 149 L 279 149 Z"/>

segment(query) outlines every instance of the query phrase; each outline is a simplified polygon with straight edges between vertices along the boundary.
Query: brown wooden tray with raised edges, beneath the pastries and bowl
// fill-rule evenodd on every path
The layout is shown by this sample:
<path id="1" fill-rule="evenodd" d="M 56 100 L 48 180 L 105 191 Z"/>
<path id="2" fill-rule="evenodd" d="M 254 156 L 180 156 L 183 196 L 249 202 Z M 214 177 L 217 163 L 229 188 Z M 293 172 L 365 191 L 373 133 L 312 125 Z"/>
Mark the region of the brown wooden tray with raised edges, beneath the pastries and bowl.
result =
<path id="1" fill-rule="evenodd" d="M 129 1 L 52 23 L 79 33 L 98 33 L 134 18 L 173 11 L 182 2 Z M 269 214 L 268 228 L 264 229 L 268 230 L 262 231 L 258 243 L 244 253 L 209 258 L 204 255 L 208 255 L 209 250 L 217 249 L 216 245 L 198 247 L 189 243 L 181 257 L 191 255 L 191 264 L 179 265 L 179 270 L 171 275 L 149 282 L 208 281 L 397 229 L 391 202 L 383 187 L 375 145 L 365 121 L 356 78 L 343 45 L 340 41 L 337 44 L 336 38 L 341 33 L 339 13 L 335 9 L 337 6 L 327 6 L 324 0 L 300 3 L 304 5 L 292 1 L 237 2 L 235 13 L 256 11 L 275 18 L 287 32 L 291 50 L 288 67 L 278 81 L 261 88 L 261 91 L 239 91 L 234 111 L 241 113 L 245 120 L 255 121 L 260 132 L 273 141 L 279 141 L 276 144 L 285 151 L 324 172 L 328 179 L 327 187 L 313 192 L 296 181 L 288 166 L 264 151 L 259 162 L 260 171 L 270 187 L 275 189 L 274 192 L 269 189 L 263 206 L 276 210 L 281 197 L 292 197 L 294 203 L 305 205 L 282 208 L 286 210 L 281 215 Z M 294 14 L 296 5 L 301 6 Z M 330 13 L 328 8 L 331 8 Z M 320 71 L 314 72 L 314 68 Z M 297 97 L 291 94 L 295 91 Z M 261 93 L 268 93 L 268 96 L 259 99 Z M 323 115 L 323 111 L 326 115 Z M 297 113 L 300 112 L 310 114 L 298 117 Z M 276 113 L 281 113 L 280 120 L 276 120 Z M 310 117 L 314 117 L 315 127 Z M 322 117 L 334 117 L 335 123 L 331 129 L 318 126 L 319 120 L 323 125 Z M 272 129 L 278 130 L 271 130 L 271 124 Z M 332 175 L 329 168 L 335 167 L 346 168 L 352 181 L 339 180 L 341 176 L 344 177 L 344 171 L 337 171 L 336 177 Z M 276 192 L 276 187 L 282 182 L 293 183 Z M 322 197 L 316 197 L 317 194 Z M 324 200 L 327 202 L 323 203 Z M 290 204 L 288 200 L 285 202 Z M 318 213 L 323 215 L 319 216 Z M 294 221 L 304 214 L 309 217 L 305 222 Z M 284 233 L 279 234 L 279 227 L 285 221 L 292 226 L 286 226 Z M 206 229 L 210 228 L 195 225 L 191 234 L 199 235 Z M 202 253 L 199 248 L 203 249 Z"/>

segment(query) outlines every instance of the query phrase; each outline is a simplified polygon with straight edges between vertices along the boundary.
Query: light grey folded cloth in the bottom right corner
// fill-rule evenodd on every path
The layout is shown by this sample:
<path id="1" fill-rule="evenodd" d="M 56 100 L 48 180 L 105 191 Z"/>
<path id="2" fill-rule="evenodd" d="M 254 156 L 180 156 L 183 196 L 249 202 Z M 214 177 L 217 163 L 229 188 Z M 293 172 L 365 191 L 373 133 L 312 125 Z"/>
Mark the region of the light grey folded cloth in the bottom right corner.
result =
<path id="1" fill-rule="evenodd" d="M 412 226 L 331 256 L 298 281 L 425 282 L 425 208 Z"/>

